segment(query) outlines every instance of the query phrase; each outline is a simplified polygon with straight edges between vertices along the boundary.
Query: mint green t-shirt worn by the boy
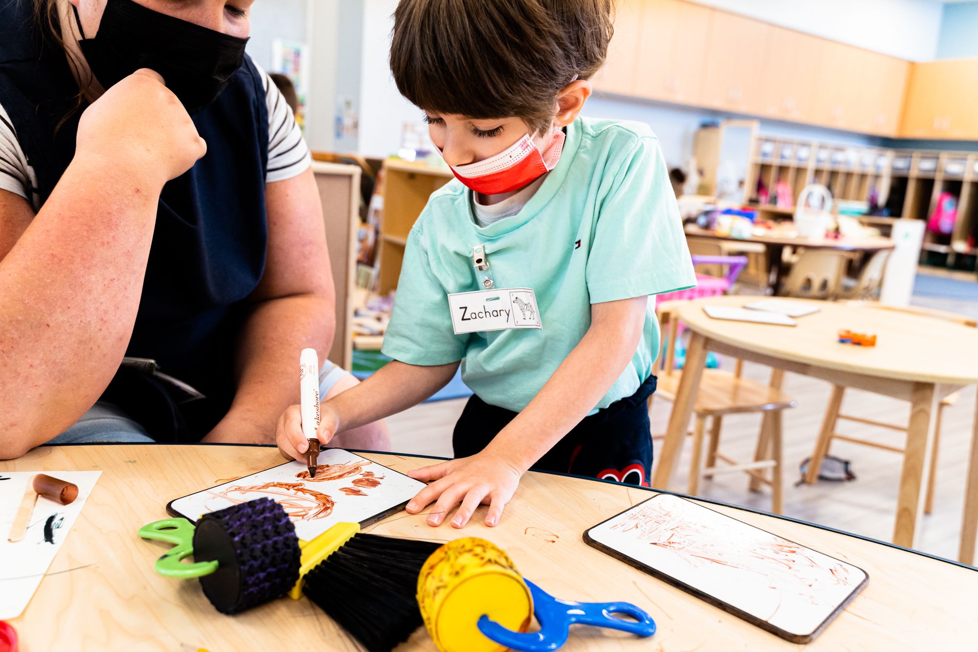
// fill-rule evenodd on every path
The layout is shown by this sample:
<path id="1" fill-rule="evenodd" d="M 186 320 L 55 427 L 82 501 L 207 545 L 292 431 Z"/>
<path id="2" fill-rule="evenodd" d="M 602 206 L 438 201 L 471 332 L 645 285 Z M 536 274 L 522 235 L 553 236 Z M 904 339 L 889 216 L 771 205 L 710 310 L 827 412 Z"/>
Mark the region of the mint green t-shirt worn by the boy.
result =
<path id="1" fill-rule="evenodd" d="M 485 227 L 457 180 L 436 191 L 408 238 L 382 352 L 408 364 L 462 360 L 482 400 L 518 412 L 591 326 L 591 305 L 696 285 L 658 140 L 642 123 L 579 117 L 522 210 Z M 497 288 L 532 288 L 543 328 L 456 335 L 448 295 L 482 290 L 484 245 Z M 649 300 L 642 341 L 596 408 L 635 394 L 660 348 Z M 582 378 L 582 383 L 587 379 Z"/>

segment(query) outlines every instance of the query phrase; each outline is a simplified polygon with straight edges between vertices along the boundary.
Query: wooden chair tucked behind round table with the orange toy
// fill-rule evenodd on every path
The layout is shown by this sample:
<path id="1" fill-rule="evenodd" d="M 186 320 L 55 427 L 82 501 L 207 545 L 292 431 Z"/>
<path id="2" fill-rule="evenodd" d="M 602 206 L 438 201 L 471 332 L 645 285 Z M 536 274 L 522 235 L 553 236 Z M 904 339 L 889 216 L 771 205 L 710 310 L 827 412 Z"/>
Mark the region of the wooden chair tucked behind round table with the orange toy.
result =
<path id="1" fill-rule="evenodd" d="M 854 305 L 865 305 L 869 307 L 878 308 L 880 310 L 892 310 L 895 314 L 906 313 L 923 315 L 927 317 L 933 317 L 934 319 L 944 319 L 946 321 L 953 321 L 955 323 L 961 324 L 962 326 L 970 326 L 972 328 L 978 327 L 978 320 L 973 317 L 968 317 L 966 315 L 956 314 L 954 312 L 946 312 L 944 310 L 935 310 L 933 308 L 917 307 L 913 305 L 884 305 L 882 303 L 873 302 L 849 302 Z M 853 416 L 849 414 L 842 414 L 839 409 L 842 407 L 842 398 L 845 393 L 845 388 L 839 387 L 838 385 L 832 388 L 832 395 L 828 399 L 828 409 L 825 411 L 825 420 L 822 424 L 822 432 L 819 434 L 819 439 L 815 443 L 815 450 L 812 453 L 812 459 L 808 465 L 808 472 L 805 475 L 805 482 L 809 485 L 815 483 L 819 478 L 819 470 L 822 467 L 822 460 L 825 455 L 828 454 L 828 448 L 832 443 L 832 440 L 842 440 L 843 442 L 859 443 L 862 445 L 872 446 L 874 448 L 882 448 L 883 450 L 891 450 L 893 452 L 898 452 L 903 454 L 904 448 L 899 446 L 888 445 L 879 442 L 870 442 L 868 440 L 861 440 L 855 437 L 848 437 L 845 435 L 839 435 L 835 432 L 835 425 L 838 423 L 839 419 L 846 421 L 854 421 L 856 423 L 866 424 L 868 426 L 876 426 L 877 428 L 885 428 L 887 430 L 895 430 L 898 432 L 907 432 L 907 426 L 900 426 L 893 423 L 887 423 L 885 421 L 875 421 L 873 419 L 867 419 L 860 416 Z M 930 514 L 934 510 L 934 485 L 935 477 L 937 475 L 937 452 L 938 445 L 941 439 L 941 417 L 944 413 L 944 408 L 949 405 L 954 405 L 960 397 L 960 392 L 956 392 L 952 395 L 945 396 L 941 400 L 940 405 L 937 408 L 937 416 L 935 417 L 934 424 L 934 449 L 930 455 L 930 474 L 927 480 L 927 496 L 924 500 L 924 513 Z"/>

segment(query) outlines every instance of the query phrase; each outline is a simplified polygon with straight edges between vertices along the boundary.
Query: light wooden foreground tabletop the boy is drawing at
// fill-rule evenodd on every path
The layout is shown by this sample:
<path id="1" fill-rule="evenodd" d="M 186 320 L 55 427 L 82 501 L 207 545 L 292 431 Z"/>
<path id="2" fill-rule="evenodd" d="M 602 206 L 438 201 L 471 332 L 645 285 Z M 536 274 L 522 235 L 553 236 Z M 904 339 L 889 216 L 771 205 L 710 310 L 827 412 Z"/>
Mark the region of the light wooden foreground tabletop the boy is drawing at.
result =
<path id="1" fill-rule="evenodd" d="M 398 471 L 432 462 L 364 453 Z M 92 494 L 20 618 L 12 621 L 22 652 L 39 650 L 355 650 L 351 639 L 308 599 L 282 598 L 238 616 L 219 614 L 196 580 L 157 576 L 168 545 L 137 536 L 166 517 L 164 505 L 185 495 L 282 462 L 271 446 L 102 444 L 42 446 L 0 462 L 3 471 L 101 470 Z M 520 573 L 558 597 L 627 600 L 643 607 L 657 632 L 640 639 L 577 627 L 564 649 L 798 650 L 589 547 L 584 531 L 653 495 L 641 489 L 561 475 L 529 473 L 496 528 L 480 507 L 464 530 L 428 527 L 404 512 L 368 528 L 380 535 L 448 540 L 483 536 L 509 552 Z M 964 649 L 978 621 L 978 571 L 896 546 L 733 506 L 712 509 L 810 545 L 862 567 L 869 582 L 807 647 Z M 420 629 L 399 650 L 435 650 Z"/>

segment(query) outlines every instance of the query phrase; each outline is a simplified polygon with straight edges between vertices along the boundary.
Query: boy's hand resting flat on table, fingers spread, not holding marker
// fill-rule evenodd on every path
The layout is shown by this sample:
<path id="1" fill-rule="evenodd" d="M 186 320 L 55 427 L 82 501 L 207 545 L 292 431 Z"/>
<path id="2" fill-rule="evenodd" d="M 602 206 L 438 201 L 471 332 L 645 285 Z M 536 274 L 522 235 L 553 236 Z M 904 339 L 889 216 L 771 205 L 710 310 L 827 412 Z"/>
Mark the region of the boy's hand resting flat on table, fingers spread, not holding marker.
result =
<path id="1" fill-rule="evenodd" d="M 408 475 L 415 480 L 431 484 L 418 492 L 408 503 L 408 513 L 417 514 L 428 503 L 437 499 L 428 514 L 427 524 L 437 527 L 445 516 L 460 501 L 462 505 L 455 512 L 452 527 L 465 528 L 472 512 L 480 503 L 489 503 L 485 524 L 495 527 L 506 506 L 519 485 L 524 469 L 513 463 L 505 455 L 489 448 L 471 457 L 453 459 L 433 466 L 425 466 Z M 432 482 L 433 481 L 433 482 Z"/>

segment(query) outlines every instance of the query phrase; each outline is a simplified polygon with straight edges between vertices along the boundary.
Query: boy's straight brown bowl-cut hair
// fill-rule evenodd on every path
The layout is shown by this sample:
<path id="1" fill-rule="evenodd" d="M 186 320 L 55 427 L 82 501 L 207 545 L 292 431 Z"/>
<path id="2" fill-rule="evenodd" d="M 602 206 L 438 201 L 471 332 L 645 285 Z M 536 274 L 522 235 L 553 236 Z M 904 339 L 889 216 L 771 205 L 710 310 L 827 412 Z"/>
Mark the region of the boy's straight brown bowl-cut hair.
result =
<path id="1" fill-rule="evenodd" d="M 607 54 L 614 0 L 401 0 L 390 70 L 436 114 L 520 117 L 547 128 L 559 91 Z"/>

